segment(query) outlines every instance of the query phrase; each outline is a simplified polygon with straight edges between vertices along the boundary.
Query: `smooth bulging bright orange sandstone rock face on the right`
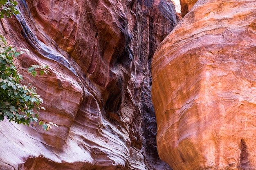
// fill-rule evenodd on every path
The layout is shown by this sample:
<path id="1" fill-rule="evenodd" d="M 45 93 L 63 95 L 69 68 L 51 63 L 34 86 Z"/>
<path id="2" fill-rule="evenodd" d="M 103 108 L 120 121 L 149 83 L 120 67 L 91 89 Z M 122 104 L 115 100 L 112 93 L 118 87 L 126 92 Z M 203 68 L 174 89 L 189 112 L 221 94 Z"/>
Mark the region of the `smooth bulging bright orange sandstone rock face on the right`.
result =
<path id="1" fill-rule="evenodd" d="M 152 61 L 160 158 L 256 169 L 256 2 L 198 0 Z"/>

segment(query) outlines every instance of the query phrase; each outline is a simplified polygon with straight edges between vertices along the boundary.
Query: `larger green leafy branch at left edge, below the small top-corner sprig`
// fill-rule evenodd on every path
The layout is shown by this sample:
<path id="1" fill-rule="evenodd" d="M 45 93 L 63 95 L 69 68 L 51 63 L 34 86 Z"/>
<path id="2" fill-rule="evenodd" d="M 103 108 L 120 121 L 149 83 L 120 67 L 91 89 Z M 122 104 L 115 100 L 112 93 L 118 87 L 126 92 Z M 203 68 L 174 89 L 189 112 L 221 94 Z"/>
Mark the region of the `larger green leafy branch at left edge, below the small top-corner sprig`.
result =
<path id="1" fill-rule="evenodd" d="M 29 126 L 31 121 L 38 120 L 38 115 L 33 110 L 44 109 L 40 106 L 43 99 L 36 94 L 35 87 L 20 84 L 22 75 L 13 64 L 13 57 L 19 56 L 20 53 L 16 48 L 7 46 L 2 35 L 0 38 L 0 121 L 7 117 L 9 121 Z"/>

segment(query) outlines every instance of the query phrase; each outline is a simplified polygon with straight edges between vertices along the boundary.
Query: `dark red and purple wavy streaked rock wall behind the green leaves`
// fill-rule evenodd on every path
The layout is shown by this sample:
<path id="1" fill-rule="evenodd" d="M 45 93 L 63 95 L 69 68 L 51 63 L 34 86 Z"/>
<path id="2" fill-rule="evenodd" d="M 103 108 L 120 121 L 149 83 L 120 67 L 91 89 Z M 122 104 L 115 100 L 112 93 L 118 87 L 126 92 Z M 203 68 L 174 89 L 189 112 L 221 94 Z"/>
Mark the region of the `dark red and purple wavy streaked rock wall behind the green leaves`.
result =
<path id="1" fill-rule="evenodd" d="M 0 169 L 169 170 L 156 149 L 150 64 L 177 24 L 166 0 L 18 0 L 1 20 L 24 82 L 44 99 L 45 132 L 0 122 Z M 22 68 L 47 64 L 50 75 Z M 4 167 L 4 168 L 3 168 Z"/>

